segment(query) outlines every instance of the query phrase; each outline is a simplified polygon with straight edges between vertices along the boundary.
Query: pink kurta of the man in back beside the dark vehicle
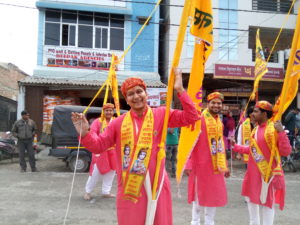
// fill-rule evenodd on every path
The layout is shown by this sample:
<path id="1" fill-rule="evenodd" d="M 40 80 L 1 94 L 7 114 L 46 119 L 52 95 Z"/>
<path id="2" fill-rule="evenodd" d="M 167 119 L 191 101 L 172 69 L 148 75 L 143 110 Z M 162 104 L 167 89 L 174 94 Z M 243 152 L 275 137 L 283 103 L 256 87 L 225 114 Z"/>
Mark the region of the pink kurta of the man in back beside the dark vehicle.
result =
<path id="1" fill-rule="evenodd" d="M 90 130 L 95 132 L 97 135 L 100 134 L 101 122 L 99 119 L 94 120 Z M 94 165 L 97 165 L 97 168 L 101 174 L 108 173 L 111 170 L 116 170 L 116 152 L 113 150 L 105 151 L 101 154 L 92 153 L 92 162 L 90 165 L 90 176 L 92 176 Z"/>

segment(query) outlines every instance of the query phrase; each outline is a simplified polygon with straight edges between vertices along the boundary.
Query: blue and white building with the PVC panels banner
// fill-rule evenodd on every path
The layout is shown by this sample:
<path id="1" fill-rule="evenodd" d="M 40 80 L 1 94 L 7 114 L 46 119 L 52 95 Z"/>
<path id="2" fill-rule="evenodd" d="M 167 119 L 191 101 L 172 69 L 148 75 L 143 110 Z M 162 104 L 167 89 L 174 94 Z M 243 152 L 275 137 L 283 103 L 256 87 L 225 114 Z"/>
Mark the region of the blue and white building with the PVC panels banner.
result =
<path id="1" fill-rule="evenodd" d="M 120 58 L 124 54 L 155 2 L 37 1 L 37 67 L 32 77 L 20 83 L 19 110 L 28 108 L 42 127 L 45 96 L 72 97 L 77 104 L 88 105 L 107 79 L 111 56 Z M 118 65 L 119 85 L 126 78 L 136 76 L 143 78 L 150 88 L 165 87 L 158 73 L 159 13 L 158 8 Z M 120 96 L 121 108 L 126 109 L 128 106 Z M 104 93 L 95 106 L 101 106 L 103 98 Z M 34 107 L 37 105 L 41 107 Z"/>

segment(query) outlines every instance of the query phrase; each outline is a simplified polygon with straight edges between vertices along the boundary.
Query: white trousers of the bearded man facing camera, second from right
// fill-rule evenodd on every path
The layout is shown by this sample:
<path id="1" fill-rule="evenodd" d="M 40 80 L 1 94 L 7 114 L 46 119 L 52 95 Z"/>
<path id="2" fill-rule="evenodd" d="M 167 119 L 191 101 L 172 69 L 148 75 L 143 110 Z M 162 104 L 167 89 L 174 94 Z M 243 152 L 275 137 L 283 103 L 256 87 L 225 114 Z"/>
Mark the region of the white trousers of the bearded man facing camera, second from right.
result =
<path id="1" fill-rule="evenodd" d="M 204 225 L 214 225 L 216 207 L 200 206 L 197 201 L 193 202 L 191 225 L 200 225 L 200 215 L 204 211 Z"/>

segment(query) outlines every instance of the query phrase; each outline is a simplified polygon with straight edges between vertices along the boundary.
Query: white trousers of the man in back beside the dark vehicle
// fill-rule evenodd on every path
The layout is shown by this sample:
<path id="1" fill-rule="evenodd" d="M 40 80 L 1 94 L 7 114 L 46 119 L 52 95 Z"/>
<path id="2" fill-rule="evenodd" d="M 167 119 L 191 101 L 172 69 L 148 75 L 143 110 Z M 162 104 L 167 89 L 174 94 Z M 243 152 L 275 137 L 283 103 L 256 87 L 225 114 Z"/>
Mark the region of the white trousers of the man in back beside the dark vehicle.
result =
<path id="1" fill-rule="evenodd" d="M 92 172 L 92 176 L 89 176 L 89 178 L 86 182 L 85 192 L 91 193 L 94 190 L 98 181 L 102 177 L 102 194 L 104 194 L 104 195 L 110 194 L 110 190 L 111 190 L 111 186 L 112 186 L 112 182 L 114 180 L 115 174 L 116 174 L 116 171 L 114 171 L 114 170 L 110 170 L 109 172 L 107 172 L 105 174 L 101 174 L 97 168 L 97 165 L 95 164 L 93 172 Z"/>

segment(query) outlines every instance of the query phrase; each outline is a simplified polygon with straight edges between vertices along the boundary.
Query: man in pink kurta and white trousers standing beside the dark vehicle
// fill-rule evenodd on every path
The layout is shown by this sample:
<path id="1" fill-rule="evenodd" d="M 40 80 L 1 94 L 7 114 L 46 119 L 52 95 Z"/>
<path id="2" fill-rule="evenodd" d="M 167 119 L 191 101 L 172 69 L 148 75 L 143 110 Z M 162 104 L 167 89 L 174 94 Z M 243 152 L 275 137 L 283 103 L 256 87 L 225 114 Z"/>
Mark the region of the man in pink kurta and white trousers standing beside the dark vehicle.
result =
<path id="1" fill-rule="evenodd" d="M 114 114 L 114 105 L 107 103 L 103 106 L 103 118 L 93 121 L 90 131 L 99 135 L 104 130 L 105 124 L 112 121 Z M 104 121 L 105 120 L 105 121 Z M 102 121 L 102 122 L 101 122 Z M 104 123 L 106 122 L 106 123 Z M 101 154 L 92 153 L 92 162 L 90 165 L 89 178 L 85 185 L 85 200 L 91 200 L 91 192 L 94 190 L 98 181 L 102 178 L 102 196 L 105 198 L 115 197 L 110 193 L 112 183 L 116 173 L 116 156 L 114 148 L 110 148 Z"/>

